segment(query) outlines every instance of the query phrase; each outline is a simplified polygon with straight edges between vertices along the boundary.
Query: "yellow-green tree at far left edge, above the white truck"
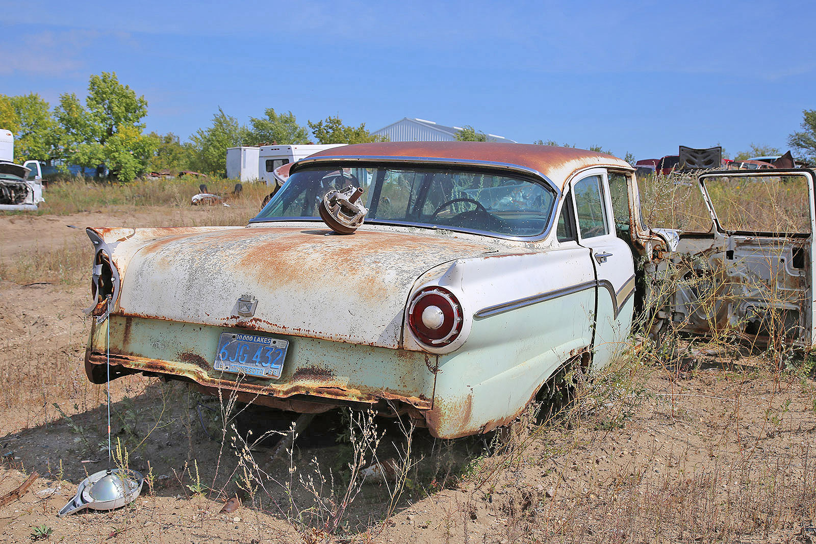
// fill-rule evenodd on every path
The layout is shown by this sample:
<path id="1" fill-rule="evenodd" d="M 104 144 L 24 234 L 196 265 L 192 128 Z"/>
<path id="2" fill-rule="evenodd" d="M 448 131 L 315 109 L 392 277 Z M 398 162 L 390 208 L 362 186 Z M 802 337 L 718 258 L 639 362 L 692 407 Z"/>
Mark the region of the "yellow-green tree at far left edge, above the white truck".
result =
<path id="1" fill-rule="evenodd" d="M 40 95 L 0 95 L 0 127 L 14 133 L 14 159 L 47 161 L 58 154 L 60 143 L 51 109 Z"/>

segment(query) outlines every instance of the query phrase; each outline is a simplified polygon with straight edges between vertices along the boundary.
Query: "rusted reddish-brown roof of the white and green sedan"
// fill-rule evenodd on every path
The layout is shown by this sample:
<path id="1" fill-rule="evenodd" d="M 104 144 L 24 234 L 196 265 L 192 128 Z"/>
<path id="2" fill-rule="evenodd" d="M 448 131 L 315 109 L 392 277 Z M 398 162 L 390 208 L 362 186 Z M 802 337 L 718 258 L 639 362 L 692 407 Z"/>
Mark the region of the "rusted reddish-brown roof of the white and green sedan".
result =
<path id="1" fill-rule="evenodd" d="M 342 153 L 341 153 L 342 150 Z M 537 144 L 498 144 L 491 142 L 384 142 L 353 144 L 326 149 L 304 161 L 318 157 L 420 157 L 448 161 L 503 162 L 537 170 L 554 184 L 563 184 L 576 170 L 589 166 L 614 166 L 634 170 L 628 162 L 605 153 L 585 149 L 561 148 Z"/>

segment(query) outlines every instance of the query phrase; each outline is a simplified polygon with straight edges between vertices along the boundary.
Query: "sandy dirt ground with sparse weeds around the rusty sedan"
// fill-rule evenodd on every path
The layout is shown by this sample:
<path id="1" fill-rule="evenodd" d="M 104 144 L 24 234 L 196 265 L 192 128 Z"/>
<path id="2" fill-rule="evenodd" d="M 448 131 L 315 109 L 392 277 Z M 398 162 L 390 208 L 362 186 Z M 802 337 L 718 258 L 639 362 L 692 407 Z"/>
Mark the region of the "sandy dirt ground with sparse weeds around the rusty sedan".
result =
<path id="1" fill-rule="evenodd" d="M 189 213 L 0 216 L 0 264 L 36 248 L 90 245 L 87 225 L 190 224 Z M 0 507 L 0 540 L 31 542 L 45 526 L 49 542 L 334 542 L 321 528 L 337 517 L 329 489 L 344 489 L 353 458 L 341 438 L 348 415 L 322 414 L 291 456 L 273 460 L 273 444 L 233 448 L 240 439 L 224 435 L 217 400 L 136 376 L 112 383 L 113 447 L 126 447 L 128 465 L 152 484 L 131 506 L 57 518 L 77 484 L 108 465 L 105 390 L 88 383 L 82 365 L 86 281 L 33 280 L 0 281 L 0 497 L 39 474 L 22 498 Z M 501 448 L 484 437 L 441 441 L 417 430 L 415 465 L 393 515 L 384 520 L 388 476 L 370 479 L 333 538 L 816 542 L 814 379 L 771 372 L 761 355 L 736 348 L 698 363 L 599 378 L 573 417 L 517 425 Z M 266 417 L 234 422 L 242 432 Z M 377 424 L 379 458 L 396 457 L 405 437 L 396 422 Z M 235 495 L 242 506 L 222 513 Z"/>

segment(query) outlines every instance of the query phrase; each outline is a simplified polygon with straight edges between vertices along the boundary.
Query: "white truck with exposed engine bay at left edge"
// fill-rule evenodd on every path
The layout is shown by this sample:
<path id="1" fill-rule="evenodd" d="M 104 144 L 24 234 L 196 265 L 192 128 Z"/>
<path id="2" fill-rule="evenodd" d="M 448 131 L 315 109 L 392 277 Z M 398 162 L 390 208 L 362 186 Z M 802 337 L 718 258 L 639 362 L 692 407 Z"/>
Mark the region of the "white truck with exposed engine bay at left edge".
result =
<path id="1" fill-rule="evenodd" d="M 14 162 L 14 135 L 0 129 L 0 210 L 37 210 L 42 197 L 39 161 Z"/>

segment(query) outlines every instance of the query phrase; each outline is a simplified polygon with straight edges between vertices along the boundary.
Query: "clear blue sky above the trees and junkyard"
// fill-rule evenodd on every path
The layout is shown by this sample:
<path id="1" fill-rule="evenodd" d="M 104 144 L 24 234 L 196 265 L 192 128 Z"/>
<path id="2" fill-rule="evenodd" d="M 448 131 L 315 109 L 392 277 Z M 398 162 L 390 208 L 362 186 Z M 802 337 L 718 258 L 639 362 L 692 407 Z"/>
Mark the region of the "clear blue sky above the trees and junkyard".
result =
<path id="1" fill-rule="evenodd" d="M 661 157 L 786 148 L 816 108 L 816 2 L 8 2 L 0 93 L 114 71 L 182 139 L 217 108 L 402 117 Z"/>

